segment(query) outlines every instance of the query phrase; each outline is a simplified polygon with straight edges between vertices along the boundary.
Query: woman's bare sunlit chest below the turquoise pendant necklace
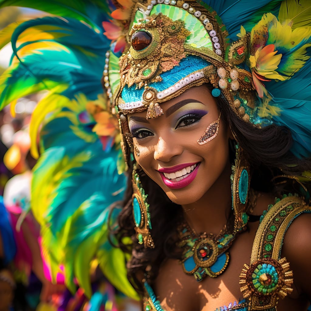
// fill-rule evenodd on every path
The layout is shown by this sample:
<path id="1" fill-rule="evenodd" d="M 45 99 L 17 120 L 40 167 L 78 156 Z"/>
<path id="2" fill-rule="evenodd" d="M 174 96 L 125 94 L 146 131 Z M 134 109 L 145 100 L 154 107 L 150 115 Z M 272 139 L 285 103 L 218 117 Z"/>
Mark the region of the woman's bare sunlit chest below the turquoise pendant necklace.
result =
<path id="1" fill-rule="evenodd" d="M 250 260 L 254 232 L 244 232 L 229 248 L 229 264 L 217 277 L 206 276 L 197 282 L 187 275 L 177 260 L 167 260 L 161 267 L 154 290 L 165 311 L 222 310 L 243 299 L 239 275 Z"/>

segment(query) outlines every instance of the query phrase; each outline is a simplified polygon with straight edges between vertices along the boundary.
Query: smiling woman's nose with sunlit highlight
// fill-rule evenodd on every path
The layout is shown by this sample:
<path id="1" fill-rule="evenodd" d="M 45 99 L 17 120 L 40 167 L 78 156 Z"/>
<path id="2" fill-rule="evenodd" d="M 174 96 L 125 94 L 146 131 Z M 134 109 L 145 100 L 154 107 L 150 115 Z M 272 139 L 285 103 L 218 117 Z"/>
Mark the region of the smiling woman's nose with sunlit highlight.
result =
<path id="1" fill-rule="evenodd" d="M 162 162 L 169 162 L 174 156 L 179 156 L 182 153 L 183 147 L 179 142 L 159 137 L 158 143 L 155 146 L 154 158 Z"/>

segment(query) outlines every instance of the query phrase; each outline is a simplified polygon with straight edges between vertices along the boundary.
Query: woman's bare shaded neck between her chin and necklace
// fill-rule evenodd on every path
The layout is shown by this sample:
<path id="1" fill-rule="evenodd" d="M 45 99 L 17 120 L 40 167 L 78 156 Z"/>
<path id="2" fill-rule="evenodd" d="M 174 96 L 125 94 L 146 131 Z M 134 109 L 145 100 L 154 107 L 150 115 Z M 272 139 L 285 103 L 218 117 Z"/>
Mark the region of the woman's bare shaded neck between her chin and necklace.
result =
<path id="1" fill-rule="evenodd" d="M 218 234 L 231 211 L 231 165 L 228 162 L 211 188 L 196 202 L 183 205 L 183 215 L 197 233 Z"/>

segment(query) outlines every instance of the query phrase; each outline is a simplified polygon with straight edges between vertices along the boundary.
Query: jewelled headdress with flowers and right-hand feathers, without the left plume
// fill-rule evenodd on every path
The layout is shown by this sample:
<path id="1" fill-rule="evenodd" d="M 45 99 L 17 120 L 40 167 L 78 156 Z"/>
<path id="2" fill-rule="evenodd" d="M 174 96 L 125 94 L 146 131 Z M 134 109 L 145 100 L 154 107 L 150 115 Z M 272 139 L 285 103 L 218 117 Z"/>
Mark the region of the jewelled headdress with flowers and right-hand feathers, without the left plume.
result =
<path id="1" fill-rule="evenodd" d="M 156 118 L 161 103 L 210 83 L 212 95 L 224 97 L 245 122 L 290 128 L 291 151 L 311 156 L 311 6 L 259 1 L 251 12 L 245 7 L 247 1 L 119 2 L 113 24 L 121 25 L 118 40 L 127 44 L 119 85 L 111 87 L 118 112 L 147 110 L 147 118 Z M 116 85 L 114 76 L 110 81 Z"/>

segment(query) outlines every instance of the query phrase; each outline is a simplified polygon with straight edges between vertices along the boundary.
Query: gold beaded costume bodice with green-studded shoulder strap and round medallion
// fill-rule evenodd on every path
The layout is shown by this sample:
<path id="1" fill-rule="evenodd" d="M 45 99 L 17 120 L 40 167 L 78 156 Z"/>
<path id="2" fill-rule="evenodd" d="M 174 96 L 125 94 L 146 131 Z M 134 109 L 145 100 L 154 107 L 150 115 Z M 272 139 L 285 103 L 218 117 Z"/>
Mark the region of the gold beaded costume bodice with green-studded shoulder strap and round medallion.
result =
<path id="1" fill-rule="evenodd" d="M 284 195 L 269 205 L 261 218 L 253 242 L 251 262 L 244 264 L 237 280 L 244 299 L 220 306 L 215 311 L 237 310 L 276 310 L 279 298 L 291 292 L 293 281 L 289 263 L 281 258 L 281 247 L 286 230 L 301 213 L 310 213 L 311 208 L 298 196 Z M 220 255 L 221 256 L 221 255 Z M 268 276 L 262 281 L 262 276 Z M 145 282 L 143 298 L 144 311 L 165 311 L 151 286 Z"/>

